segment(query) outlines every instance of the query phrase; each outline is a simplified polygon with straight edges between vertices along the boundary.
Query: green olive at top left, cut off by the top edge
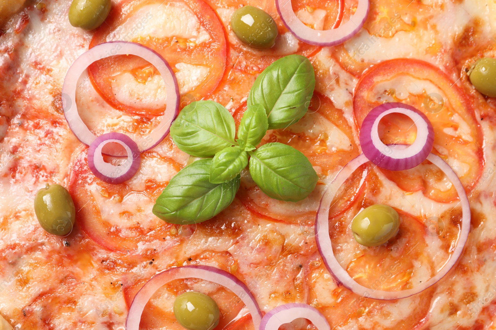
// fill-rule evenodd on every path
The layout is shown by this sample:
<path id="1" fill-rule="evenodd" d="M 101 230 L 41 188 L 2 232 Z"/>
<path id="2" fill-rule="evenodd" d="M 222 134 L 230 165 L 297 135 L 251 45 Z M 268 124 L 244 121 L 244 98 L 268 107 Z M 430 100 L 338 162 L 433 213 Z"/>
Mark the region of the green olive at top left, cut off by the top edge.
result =
<path id="1" fill-rule="evenodd" d="M 112 6 L 111 0 L 72 0 L 69 8 L 70 25 L 93 30 L 102 25 Z"/>

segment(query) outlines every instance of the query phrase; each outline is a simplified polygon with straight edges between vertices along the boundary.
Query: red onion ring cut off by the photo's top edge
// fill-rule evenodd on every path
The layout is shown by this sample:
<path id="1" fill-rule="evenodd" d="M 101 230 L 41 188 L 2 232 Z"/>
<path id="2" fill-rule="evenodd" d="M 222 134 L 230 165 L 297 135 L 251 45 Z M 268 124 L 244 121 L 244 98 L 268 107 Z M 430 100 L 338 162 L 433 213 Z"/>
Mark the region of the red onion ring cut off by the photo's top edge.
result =
<path id="1" fill-rule="evenodd" d="M 358 0 L 357 11 L 350 20 L 332 30 L 314 30 L 296 16 L 291 0 L 276 0 L 276 7 L 284 25 L 299 40 L 316 46 L 335 46 L 344 43 L 360 31 L 369 15 L 370 0 Z"/>

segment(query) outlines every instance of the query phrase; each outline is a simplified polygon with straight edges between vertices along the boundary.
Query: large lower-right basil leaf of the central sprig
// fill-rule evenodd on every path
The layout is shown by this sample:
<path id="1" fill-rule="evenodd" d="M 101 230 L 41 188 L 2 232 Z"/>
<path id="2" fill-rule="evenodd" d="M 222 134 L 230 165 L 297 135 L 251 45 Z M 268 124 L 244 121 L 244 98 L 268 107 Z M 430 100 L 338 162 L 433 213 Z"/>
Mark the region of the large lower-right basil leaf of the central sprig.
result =
<path id="1" fill-rule="evenodd" d="M 267 143 L 249 154 L 251 178 L 269 197 L 297 202 L 315 189 L 317 173 L 308 158 L 292 146 Z"/>

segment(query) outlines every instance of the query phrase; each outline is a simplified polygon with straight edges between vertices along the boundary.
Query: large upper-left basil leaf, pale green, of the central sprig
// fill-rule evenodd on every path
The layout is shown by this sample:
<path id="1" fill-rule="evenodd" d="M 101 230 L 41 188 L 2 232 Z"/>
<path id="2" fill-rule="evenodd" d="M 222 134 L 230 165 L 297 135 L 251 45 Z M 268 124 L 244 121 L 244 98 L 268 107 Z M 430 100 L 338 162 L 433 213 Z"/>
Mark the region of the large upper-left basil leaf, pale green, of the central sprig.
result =
<path id="1" fill-rule="evenodd" d="M 229 111 L 214 101 L 188 104 L 171 126 L 178 148 L 196 157 L 209 157 L 235 144 L 236 126 Z"/>

